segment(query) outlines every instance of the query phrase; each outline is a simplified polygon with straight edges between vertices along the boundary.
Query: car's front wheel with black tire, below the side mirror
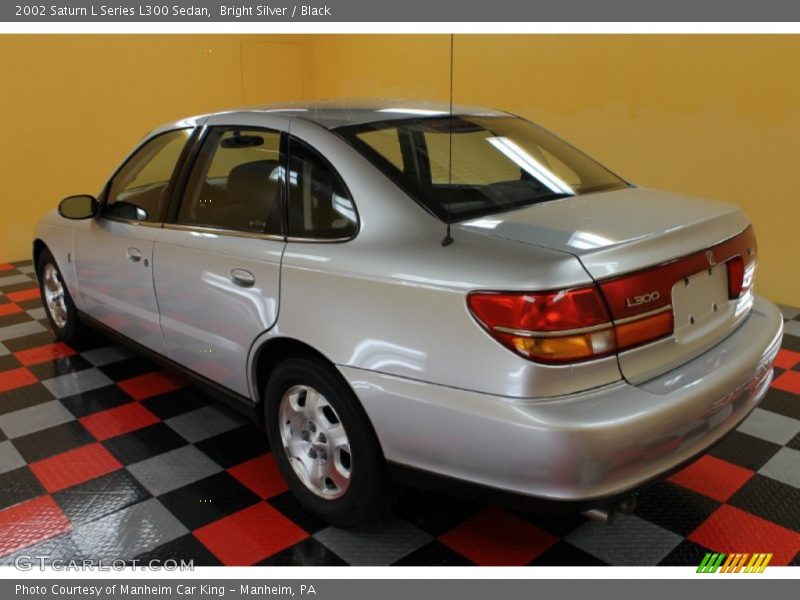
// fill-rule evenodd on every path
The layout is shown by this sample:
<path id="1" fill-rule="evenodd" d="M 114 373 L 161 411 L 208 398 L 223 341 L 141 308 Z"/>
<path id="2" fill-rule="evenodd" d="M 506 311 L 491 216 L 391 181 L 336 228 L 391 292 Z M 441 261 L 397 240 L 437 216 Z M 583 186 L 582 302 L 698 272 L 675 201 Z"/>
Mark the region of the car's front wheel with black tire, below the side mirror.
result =
<path id="1" fill-rule="evenodd" d="M 77 342 L 84 333 L 84 326 L 78 319 L 78 311 L 67 284 L 64 283 L 61 269 L 47 248 L 39 256 L 36 273 L 39 277 L 42 305 L 50 327 L 58 339 L 68 344 Z"/>

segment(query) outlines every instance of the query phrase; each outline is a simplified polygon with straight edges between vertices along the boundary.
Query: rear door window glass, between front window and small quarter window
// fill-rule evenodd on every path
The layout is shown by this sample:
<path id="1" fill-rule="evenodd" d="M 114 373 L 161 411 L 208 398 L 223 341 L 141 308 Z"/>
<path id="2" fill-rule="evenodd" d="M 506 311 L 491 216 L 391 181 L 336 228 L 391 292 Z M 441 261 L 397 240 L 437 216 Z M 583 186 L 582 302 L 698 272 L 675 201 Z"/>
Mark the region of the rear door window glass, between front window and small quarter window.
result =
<path id="1" fill-rule="evenodd" d="M 178 223 L 282 235 L 281 134 L 216 127 L 189 177 Z"/>

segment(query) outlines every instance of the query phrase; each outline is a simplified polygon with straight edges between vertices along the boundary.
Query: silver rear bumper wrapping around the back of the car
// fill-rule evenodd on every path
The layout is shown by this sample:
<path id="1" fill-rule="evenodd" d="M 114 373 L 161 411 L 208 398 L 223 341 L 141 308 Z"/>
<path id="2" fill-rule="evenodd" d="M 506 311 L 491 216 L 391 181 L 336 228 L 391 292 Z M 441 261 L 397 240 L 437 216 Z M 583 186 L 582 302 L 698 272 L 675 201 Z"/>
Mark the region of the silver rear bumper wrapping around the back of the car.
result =
<path id="1" fill-rule="evenodd" d="M 757 298 L 736 331 L 677 369 L 544 400 L 339 368 L 388 461 L 536 499 L 599 501 L 674 470 L 741 423 L 769 387 L 782 333 L 778 309 Z"/>

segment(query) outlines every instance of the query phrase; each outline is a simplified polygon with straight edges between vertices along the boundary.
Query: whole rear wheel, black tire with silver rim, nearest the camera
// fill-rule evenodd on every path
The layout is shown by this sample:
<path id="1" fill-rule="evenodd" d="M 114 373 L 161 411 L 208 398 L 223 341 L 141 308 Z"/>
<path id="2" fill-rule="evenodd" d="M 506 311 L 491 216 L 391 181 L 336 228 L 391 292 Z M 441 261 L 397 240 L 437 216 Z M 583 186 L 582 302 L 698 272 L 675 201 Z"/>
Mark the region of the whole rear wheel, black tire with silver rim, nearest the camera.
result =
<path id="1" fill-rule="evenodd" d="M 391 497 L 377 436 L 350 386 L 309 357 L 278 365 L 264 411 L 278 468 L 300 502 L 339 527 L 378 514 Z"/>

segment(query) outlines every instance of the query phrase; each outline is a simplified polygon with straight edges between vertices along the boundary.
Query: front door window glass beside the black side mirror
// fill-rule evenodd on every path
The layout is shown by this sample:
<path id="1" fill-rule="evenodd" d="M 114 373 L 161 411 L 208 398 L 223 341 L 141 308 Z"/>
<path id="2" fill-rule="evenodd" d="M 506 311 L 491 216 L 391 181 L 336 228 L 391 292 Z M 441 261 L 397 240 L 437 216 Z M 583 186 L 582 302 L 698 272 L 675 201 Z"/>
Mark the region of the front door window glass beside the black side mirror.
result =
<path id="1" fill-rule="evenodd" d="M 103 216 L 160 223 L 169 182 L 191 134 L 191 129 L 162 133 L 139 148 L 111 180 Z"/>

